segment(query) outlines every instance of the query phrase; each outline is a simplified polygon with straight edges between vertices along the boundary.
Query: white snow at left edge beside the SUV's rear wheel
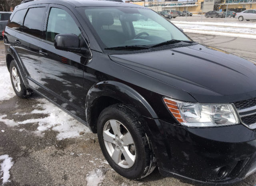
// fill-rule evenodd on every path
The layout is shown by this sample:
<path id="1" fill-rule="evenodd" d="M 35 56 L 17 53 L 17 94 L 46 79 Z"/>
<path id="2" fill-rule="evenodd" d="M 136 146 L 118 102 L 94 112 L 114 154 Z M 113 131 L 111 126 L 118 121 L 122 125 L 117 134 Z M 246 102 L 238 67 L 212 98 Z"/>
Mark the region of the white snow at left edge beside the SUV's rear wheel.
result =
<path id="1" fill-rule="evenodd" d="M 15 93 L 12 89 L 10 73 L 5 65 L 5 61 L 0 61 L 0 80 L 0 101 L 14 97 Z"/>

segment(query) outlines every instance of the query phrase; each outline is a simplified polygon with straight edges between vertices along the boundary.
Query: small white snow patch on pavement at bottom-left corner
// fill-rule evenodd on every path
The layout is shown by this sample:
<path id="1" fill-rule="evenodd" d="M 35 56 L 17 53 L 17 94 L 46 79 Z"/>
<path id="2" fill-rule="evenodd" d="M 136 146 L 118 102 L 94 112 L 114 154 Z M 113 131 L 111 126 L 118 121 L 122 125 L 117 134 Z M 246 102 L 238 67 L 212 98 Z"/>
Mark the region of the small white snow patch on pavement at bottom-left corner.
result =
<path id="1" fill-rule="evenodd" d="M 0 161 L 3 160 L 2 164 L 0 165 L 0 179 L 3 180 L 3 184 L 6 182 L 10 182 L 10 168 L 13 166 L 12 158 L 9 157 L 7 154 L 0 156 Z"/>

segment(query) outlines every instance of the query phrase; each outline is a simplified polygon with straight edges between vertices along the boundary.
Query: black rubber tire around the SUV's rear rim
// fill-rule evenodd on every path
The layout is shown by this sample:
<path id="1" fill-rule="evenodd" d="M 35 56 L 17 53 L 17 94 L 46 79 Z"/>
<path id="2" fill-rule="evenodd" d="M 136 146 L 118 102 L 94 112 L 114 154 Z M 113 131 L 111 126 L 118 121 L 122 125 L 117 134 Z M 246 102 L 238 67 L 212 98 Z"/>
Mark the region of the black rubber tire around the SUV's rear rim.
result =
<path id="1" fill-rule="evenodd" d="M 14 85 L 14 79 L 12 77 L 12 69 L 15 67 L 16 69 L 16 72 L 18 74 L 18 77 L 20 79 L 20 91 L 18 91 L 16 88 L 15 88 L 15 85 Z M 12 88 L 14 89 L 14 92 L 15 94 L 18 96 L 18 97 L 21 97 L 21 98 L 27 98 L 27 97 L 30 97 L 32 94 L 33 94 L 33 91 L 31 89 L 28 89 L 25 87 L 24 85 L 24 82 L 22 81 L 22 77 L 21 77 L 21 74 L 20 74 L 20 71 L 18 69 L 18 67 L 16 66 L 16 63 L 14 60 L 11 61 L 10 63 L 10 78 L 11 78 L 11 82 L 12 82 Z"/>

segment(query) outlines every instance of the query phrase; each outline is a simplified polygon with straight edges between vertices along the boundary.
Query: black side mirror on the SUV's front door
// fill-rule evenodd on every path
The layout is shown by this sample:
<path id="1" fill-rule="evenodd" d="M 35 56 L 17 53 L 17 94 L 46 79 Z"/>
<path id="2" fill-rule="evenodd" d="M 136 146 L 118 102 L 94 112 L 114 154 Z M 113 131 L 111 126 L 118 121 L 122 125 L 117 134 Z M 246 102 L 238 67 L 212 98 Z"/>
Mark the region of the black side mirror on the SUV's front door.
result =
<path id="1" fill-rule="evenodd" d="M 86 58 L 91 58 L 88 48 L 80 47 L 80 39 L 75 34 L 58 34 L 54 39 L 54 47 L 59 50 L 82 53 Z"/>

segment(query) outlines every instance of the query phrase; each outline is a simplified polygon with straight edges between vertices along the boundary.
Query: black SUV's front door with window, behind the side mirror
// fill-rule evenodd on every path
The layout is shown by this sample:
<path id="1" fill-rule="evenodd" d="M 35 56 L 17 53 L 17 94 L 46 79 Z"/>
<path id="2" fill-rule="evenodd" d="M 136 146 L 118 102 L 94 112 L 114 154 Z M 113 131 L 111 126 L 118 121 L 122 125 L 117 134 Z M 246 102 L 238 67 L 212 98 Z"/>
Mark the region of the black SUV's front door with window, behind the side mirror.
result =
<path id="1" fill-rule="evenodd" d="M 80 28 L 77 26 L 78 21 L 68 8 L 61 5 L 50 5 L 47 15 L 44 40 L 39 44 L 41 91 L 45 91 L 44 94 L 58 105 L 83 118 L 84 58 L 77 53 L 54 47 L 54 38 L 58 34 L 75 34 L 80 37 L 81 46 L 85 45 Z"/>

